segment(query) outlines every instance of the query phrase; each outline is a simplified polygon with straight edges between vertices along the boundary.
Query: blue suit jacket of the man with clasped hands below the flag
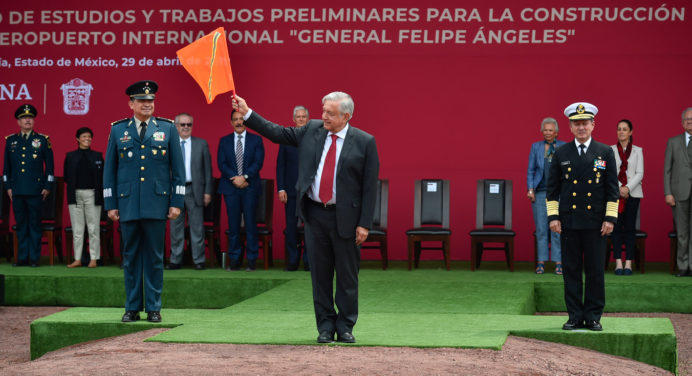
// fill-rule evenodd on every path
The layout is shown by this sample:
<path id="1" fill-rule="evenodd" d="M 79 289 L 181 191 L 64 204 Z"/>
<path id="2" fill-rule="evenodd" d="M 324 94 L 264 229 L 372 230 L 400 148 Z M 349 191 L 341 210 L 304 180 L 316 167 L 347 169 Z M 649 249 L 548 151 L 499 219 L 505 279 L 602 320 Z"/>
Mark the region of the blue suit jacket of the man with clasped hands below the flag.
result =
<path id="1" fill-rule="evenodd" d="M 235 162 L 235 132 L 226 135 L 219 141 L 218 164 L 221 170 L 221 180 L 219 180 L 219 193 L 227 195 L 238 191 L 231 178 L 238 176 L 238 167 Z M 243 149 L 243 175 L 248 176 L 250 189 L 256 194 L 262 193 L 259 171 L 264 163 L 264 145 L 262 137 L 245 132 L 245 148 Z"/>

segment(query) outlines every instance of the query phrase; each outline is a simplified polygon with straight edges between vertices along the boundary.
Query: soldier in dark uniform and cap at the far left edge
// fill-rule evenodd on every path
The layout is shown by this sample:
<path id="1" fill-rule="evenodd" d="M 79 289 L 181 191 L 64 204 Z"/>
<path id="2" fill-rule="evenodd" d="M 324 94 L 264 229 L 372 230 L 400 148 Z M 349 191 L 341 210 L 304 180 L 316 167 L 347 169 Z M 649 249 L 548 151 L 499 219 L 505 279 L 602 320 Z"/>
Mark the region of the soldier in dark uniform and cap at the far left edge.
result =
<path id="1" fill-rule="evenodd" d="M 47 135 L 34 132 L 36 108 L 19 106 L 14 113 L 19 133 L 5 137 L 3 181 L 12 200 L 19 240 L 13 266 L 37 267 L 41 257 L 41 200 L 53 189 L 53 149 Z M 45 167 L 45 168 L 44 168 Z"/>

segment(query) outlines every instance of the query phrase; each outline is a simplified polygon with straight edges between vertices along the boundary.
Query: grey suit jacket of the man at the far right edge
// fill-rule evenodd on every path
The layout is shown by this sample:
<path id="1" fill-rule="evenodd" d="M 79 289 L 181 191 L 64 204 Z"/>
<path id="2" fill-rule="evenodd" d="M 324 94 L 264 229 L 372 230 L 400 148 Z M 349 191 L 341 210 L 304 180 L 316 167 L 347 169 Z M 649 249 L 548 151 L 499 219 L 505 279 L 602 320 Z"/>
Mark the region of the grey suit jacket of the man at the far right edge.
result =
<path id="1" fill-rule="evenodd" d="M 692 141 L 690 141 L 692 142 Z M 688 200 L 692 188 L 692 168 L 687 156 L 685 134 L 668 139 L 663 167 L 663 194 L 675 200 Z"/>

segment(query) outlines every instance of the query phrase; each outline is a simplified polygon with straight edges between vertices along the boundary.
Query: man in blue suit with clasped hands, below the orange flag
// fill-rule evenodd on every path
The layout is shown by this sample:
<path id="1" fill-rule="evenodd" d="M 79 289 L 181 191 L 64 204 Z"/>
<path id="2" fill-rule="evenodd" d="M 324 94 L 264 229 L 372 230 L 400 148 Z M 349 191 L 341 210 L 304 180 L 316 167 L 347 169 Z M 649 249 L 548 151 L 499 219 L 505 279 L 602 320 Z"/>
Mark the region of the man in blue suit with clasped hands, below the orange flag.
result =
<path id="1" fill-rule="evenodd" d="M 264 145 L 260 136 L 245 130 L 243 115 L 231 113 L 233 133 L 219 141 L 218 165 L 221 170 L 219 193 L 226 202 L 228 215 L 228 260 L 227 270 L 240 270 L 242 244 L 240 244 L 240 215 L 245 219 L 247 234 L 247 268 L 255 271 L 259 243 L 255 210 L 262 193 L 259 171 L 264 163 Z"/>

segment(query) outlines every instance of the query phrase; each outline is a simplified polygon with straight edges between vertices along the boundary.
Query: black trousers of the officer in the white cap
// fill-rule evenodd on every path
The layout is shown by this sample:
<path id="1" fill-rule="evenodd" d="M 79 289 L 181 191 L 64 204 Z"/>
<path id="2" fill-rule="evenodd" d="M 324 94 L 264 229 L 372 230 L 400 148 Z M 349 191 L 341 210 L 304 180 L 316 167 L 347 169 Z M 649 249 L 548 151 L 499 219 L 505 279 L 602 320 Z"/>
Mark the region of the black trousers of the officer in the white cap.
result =
<path id="1" fill-rule="evenodd" d="M 605 306 L 603 268 L 606 238 L 601 236 L 600 229 L 563 230 L 560 241 L 569 318 L 600 321 Z M 585 289 L 582 289 L 582 268 L 586 277 Z"/>

